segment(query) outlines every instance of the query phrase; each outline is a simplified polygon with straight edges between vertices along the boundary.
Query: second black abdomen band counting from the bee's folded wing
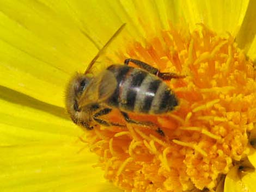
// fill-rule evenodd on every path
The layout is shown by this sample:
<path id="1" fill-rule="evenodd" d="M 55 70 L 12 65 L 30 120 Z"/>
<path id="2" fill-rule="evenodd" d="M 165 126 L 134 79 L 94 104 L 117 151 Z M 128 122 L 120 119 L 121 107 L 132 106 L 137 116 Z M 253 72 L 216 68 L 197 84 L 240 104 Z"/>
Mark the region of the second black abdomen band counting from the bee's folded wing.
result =
<path id="1" fill-rule="evenodd" d="M 136 69 L 135 69 L 136 70 Z M 137 70 L 136 70 L 137 71 Z M 131 84 L 129 85 L 129 88 L 125 88 L 124 90 L 127 90 L 126 94 L 126 102 L 124 103 L 123 107 L 126 110 L 133 111 L 135 107 L 136 102 L 136 96 L 141 88 L 141 84 L 144 80 L 144 78 L 148 75 L 148 73 L 139 70 L 138 72 L 132 74 L 129 78 L 131 79 Z"/>

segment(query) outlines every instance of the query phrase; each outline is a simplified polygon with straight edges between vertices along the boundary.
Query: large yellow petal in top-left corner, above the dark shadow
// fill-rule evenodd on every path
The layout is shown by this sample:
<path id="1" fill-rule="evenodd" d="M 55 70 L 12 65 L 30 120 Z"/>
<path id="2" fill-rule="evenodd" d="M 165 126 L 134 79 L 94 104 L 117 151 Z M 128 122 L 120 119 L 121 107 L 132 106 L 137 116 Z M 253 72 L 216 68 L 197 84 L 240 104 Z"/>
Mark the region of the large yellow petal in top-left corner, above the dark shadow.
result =
<path id="1" fill-rule="evenodd" d="M 92 59 L 93 43 L 71 17 L 35 1 L 1 1 L 0 27 L 1 85 L 64 106 L 65 84 Z"/>

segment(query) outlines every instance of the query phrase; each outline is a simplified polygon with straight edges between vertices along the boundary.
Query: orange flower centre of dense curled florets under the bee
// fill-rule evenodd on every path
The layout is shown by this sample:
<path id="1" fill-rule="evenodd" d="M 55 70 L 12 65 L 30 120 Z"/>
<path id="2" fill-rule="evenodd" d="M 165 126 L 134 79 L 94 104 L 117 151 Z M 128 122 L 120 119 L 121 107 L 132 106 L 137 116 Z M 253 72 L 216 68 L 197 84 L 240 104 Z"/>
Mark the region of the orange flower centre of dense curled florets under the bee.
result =
<path id="1" fill-rule="evenodd" d="M 233 36 L 203 25 L 191 33 L 162 30 L 143 44 L 124 44 L 111 55 L 144 61 L 161 72 L 184 78 L 166 81 L 179 106 L 164 115 L 129 114 L 153 127 L 127 123 L 118 110 L 105 116 L 125 127 L 89 131 L 90 150 L 105 178 L 125 191 L 216 191 L 220 178 L 246 158 L 249 132 L 256 123 L 256 72 Z M 85 140 L 85 139 L 84 139 Z"/>

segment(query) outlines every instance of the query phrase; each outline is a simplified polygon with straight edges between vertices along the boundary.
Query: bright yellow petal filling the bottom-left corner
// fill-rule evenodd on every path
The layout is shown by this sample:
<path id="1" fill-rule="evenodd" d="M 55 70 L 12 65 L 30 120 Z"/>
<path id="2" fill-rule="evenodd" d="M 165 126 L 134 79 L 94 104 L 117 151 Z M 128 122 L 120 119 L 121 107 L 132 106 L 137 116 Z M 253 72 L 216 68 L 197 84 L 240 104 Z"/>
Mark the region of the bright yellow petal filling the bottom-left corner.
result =
<path id="1" fill-rule="evenodd" d="M 0 147 L 1 191 L 119 191 L 92 166 L 84 144 L 40 143 Z"/>

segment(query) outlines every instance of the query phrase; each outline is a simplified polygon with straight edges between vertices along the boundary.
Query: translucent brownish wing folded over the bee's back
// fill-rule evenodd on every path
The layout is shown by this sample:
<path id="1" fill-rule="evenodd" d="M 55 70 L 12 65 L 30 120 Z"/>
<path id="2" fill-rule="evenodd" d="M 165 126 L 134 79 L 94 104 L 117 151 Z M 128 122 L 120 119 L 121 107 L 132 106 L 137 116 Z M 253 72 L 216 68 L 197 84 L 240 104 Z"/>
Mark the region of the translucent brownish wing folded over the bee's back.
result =
<path id="1" fill-rule="evenodd" d="M 117 80 L 112 72 L 104 70 L 99 76 L 91 80 L 86 90 L 83 92 L 78 105 L 87 106 L 91 103 L 100 103 L 109 98 L 117 87 Z"/>

